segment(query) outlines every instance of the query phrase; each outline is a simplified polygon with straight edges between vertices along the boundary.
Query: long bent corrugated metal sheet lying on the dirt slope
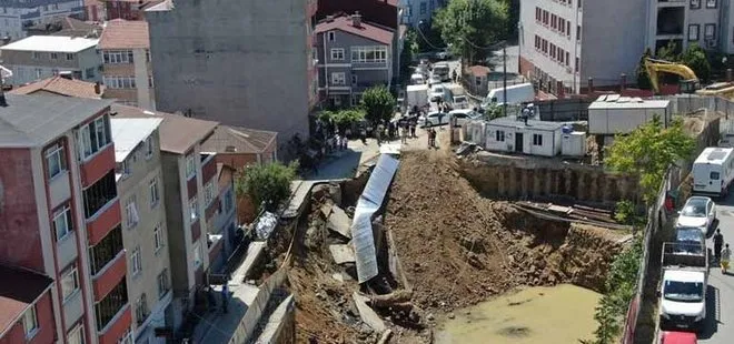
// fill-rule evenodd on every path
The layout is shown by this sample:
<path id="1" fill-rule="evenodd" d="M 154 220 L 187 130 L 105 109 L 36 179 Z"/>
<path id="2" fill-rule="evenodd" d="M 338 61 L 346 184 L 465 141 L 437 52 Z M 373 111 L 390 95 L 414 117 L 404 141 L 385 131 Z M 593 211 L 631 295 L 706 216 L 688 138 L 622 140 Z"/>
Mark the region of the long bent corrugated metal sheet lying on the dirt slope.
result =
<path id="1" fill-rule="evenodd" d="M 351 223 L 351 237 L 357 257 L 357 277 L 359 283 L 377 275 L 377 254 L 373 236 L 371 216 L 385 200 L 387 189 L 397 171 L 399 161 L 389 154 L 381 154 L 373 170 L 365 191 L 357 201 Z"/>

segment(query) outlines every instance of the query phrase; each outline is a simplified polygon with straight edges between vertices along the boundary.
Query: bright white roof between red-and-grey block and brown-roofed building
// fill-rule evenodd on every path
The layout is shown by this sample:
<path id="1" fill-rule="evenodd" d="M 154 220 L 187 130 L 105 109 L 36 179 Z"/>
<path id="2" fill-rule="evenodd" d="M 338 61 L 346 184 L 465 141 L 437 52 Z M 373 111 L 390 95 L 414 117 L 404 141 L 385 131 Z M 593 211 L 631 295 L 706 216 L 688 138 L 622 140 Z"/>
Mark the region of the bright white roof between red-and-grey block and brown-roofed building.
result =
<path id="1" fill-rule="evenodd" d="M 110 121 L 115 161 L 122 162 L 138 144 L 148 139 L 158 129 L 163 119 L 118 119 Z"/>

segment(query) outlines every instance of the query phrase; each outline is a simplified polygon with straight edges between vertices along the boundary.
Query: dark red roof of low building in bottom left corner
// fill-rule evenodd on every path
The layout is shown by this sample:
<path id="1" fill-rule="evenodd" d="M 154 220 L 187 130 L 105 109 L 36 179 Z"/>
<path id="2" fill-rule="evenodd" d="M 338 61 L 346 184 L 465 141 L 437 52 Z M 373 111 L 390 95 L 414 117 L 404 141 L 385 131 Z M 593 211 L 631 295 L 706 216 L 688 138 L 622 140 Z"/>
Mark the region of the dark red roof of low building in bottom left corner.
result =
<path id="1" fill-rule="evenodd" d="M 28 270 L 0 265 L 0 333 L 41 296 L 53 280 Z"/>

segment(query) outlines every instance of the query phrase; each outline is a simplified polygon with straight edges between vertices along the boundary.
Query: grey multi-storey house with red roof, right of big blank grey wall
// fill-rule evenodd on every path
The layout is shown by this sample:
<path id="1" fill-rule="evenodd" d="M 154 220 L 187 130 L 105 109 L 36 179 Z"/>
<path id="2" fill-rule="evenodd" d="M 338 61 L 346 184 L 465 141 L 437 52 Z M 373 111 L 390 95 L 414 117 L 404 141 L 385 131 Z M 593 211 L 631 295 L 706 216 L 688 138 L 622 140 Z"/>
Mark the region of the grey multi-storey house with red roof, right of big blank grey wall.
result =
<path id="1" fill-rule="evenodd" d="M 316 26 L 319 93 L 333 107 L 354 107 L 370 87 L 393 80 L 395 32 L 361 14 L 328 17 Z"/>

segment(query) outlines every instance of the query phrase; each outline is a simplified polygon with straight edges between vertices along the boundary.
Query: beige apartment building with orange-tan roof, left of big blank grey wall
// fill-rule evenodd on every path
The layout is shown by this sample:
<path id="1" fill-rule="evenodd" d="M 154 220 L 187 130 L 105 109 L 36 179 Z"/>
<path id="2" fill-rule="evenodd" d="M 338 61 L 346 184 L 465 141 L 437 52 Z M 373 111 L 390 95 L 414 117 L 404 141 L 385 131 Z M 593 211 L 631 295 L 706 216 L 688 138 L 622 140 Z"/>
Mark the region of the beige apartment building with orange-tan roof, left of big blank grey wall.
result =
<path id="1" fill-rule="evenodd" d="M 156 110 L 148 23 L 122 19 L 108 21 L 98 49 L 105 62 L 105 98 Z"/>

